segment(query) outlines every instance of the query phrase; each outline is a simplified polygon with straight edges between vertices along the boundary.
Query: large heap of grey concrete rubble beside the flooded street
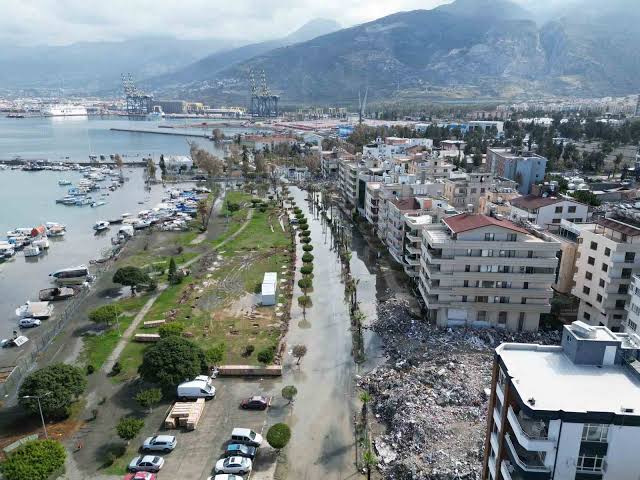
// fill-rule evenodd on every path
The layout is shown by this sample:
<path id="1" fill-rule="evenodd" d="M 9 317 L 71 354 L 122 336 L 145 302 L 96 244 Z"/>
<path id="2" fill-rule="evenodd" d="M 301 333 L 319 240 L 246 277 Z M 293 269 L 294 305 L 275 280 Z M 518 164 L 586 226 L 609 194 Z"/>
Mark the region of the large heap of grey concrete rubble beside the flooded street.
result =
<path id="1" fill-rule="evenodd" d="M 374 438 L 388 479 L 479 479 L 493 349 L 502 342 L 556 344 L 559 332 L 439 330 L 405 301 L 380 304 L 371 327 L 390 361 L 359 379 L 372 394 Z"/>

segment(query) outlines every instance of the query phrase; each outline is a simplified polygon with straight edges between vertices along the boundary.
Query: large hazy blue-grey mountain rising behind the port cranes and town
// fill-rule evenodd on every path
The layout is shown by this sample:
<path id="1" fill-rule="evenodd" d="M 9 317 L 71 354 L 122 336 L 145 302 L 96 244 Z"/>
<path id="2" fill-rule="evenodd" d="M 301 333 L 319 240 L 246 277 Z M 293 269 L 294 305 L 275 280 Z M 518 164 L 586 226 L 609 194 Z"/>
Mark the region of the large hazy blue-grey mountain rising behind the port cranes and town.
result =
<path id="1" fill-rule="evenodd" d="M 174 96 L 246 102 L 253 70 L 266 73 L 283 103 L 353 103 L 365 88 L 370 99 L 400 101 L 635 93 L 640 13 L 634 3 L 542 1 L 532 11 L 508 0 L 456 0 L 231 65 L 219 61 L 230 52 L 220 52 L 206 68 L 163 77 L 163 88 Z"/>

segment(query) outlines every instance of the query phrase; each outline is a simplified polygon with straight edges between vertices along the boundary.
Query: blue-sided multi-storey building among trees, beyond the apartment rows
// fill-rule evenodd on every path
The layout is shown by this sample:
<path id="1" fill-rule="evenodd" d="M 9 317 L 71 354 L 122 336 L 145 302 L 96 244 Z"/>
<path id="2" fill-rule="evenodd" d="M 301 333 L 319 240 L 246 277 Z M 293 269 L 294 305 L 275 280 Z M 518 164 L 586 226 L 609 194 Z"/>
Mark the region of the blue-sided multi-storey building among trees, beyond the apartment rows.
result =
<path id="1" fill-rule="evenodd" d="M 493 175 L 518 182 L 518 191 L 523 195 L 531 193 L 533 184 L 544 180 L 547 170 L 546 158 L 506 148 L 488 148 L 487 164 Z"/>

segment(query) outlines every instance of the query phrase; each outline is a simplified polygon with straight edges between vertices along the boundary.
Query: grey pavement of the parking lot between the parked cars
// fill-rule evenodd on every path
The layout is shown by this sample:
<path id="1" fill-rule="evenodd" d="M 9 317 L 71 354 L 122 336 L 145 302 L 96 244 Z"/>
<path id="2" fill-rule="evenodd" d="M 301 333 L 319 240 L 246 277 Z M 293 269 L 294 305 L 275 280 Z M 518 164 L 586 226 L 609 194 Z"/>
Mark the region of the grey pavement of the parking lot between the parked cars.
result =
<path id="1" fill-rule="evenodd" d="M 215 463 L 224 453 L 234 427 L 250 428 L 264 436 L 270 425 L 282 421 L 289 413 L 286 400 L 280 397 L 279 379 L 219 378 L 214 385 L 216 398 L 206 403 L 195 430 L 158 430 L 158 433 L 177 438 L 176 449 L 164 455 L 165 464 L 158 474 L 159 479 L 206 480 L 214 474 Z M 273 396 L 272 406 L 266 411 L 240 409 L 242 399 L 256 394 Z M 266 440 L 263 445 L 266 446 Z M 267 470 L 273 460 L 265 458 L 268 455 L 264 455 L 264 446 L 258 450 L 252 477 Z"/>

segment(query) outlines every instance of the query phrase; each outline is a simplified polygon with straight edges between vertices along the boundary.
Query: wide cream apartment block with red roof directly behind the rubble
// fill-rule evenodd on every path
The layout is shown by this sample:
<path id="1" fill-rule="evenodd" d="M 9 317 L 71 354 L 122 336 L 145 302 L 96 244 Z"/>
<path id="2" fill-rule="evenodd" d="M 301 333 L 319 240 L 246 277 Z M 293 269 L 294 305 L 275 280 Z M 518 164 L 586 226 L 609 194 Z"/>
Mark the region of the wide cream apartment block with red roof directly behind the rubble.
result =
<path id="1" fill-rule="evenodd" d="M 535 331 L 549 303 L 557 242 L 502 218 L 462 213 L 422 229 L 419 289 L 441 327 Z"/>

